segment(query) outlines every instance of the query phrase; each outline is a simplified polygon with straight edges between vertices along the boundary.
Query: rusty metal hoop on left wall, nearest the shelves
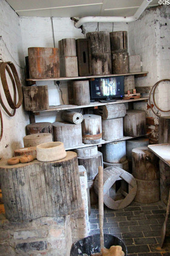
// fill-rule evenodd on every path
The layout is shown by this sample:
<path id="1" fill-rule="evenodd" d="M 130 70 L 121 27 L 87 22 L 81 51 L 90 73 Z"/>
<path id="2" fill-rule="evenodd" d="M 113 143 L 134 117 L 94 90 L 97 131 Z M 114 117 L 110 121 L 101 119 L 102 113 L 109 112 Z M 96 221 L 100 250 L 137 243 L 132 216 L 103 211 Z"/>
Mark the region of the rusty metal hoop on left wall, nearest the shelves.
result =
<path id="1" fill-rule="evenodd" d="M 12 71 L 12 74 L 13 74 L 14 80 L 15 80 L 15 86 L 17 87 L 17 92 L 18 92 L 18 102 L 17 103 L 15 101 L 13 101 L 13 99 L 11 97 L 11 93 L 8 88 L 8 82 L 6 79 L 6 70 L 7 70 L 8 66 L 11 68 L 11 71 Z M 10 62 L 10 61 L 3 62 L 0 65 L 0 77 L 1 77 L 2 85 L 3 85 L 3 90 L 4 90 L 4 93 L 5 93 L 5 96 L 6 96 L 9 106 L 12 109 L 19 108 L 23 102 L 23 92 L 22 92 L 22 87 L 20 84 L 20 79 L 18 77 L 17 70 L 12 62 Z M 10 76 L 10 79 L 11 79 L 11 76 Z"/>

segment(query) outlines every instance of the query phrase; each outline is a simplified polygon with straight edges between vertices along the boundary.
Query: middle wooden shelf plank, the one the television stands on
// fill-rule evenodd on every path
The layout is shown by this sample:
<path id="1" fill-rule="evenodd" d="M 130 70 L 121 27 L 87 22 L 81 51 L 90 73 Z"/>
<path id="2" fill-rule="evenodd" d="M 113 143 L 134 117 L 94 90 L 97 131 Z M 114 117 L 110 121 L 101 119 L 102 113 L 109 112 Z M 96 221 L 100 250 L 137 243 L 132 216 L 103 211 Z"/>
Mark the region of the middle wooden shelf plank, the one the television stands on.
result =
<path id="1" fill-rule="evenodd" d="M 110 105 L 110 104 L 118 104 L 118 103 L 126 103 L 126 102 L 136 102 L 136 101 L 143 101 L 147 100 L 148 97 L 139 98 L 139 99 L 118 99 L 116 102 L 91 102 L 88 105 L 59 105 L 59 106 L 51 106 L 50 108 L 42 111 L 32 111 L 33 113 L 39 113 L 39 112 L 48 112 L 48 111 L 60 111 L 60 110 L 66 110 L 66 109 L 75 109 L 75 108 L 90 108 L 95 106 L 103 106 L 103 105 Z"/>

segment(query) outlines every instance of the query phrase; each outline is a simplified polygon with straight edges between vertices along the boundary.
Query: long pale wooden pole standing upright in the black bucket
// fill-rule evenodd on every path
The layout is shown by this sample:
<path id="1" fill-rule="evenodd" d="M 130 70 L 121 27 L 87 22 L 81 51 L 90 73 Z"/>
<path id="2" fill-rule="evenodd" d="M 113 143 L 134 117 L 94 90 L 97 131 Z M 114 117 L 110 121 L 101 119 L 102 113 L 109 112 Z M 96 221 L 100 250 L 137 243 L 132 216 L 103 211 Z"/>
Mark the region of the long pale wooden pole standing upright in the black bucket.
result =
<path id="1" fill-rule="evenodd" d="M 104 248 L 103 235 L 103 167 L 99 166 L 99 226 L 100 226 L 100 250 Z"/>

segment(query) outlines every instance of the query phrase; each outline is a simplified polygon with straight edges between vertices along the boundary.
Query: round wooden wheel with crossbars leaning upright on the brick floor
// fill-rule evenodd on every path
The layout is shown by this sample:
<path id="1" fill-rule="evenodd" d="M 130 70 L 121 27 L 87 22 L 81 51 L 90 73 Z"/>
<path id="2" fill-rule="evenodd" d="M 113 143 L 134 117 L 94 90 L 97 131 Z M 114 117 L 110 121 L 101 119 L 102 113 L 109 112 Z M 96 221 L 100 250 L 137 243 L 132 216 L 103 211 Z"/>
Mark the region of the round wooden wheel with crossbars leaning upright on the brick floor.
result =
<path id="1" fill-rule="evenodd" d="M 126 195 L 124 199 L 115 201 L 108 195 L 109 190 L 116 182 L 116 180 L 125 180 L 129 184 L 129 192 L 121 191 L 123 195 Z M 119 167 L 107 167 L 103 173 L 103 194 L 104 204 L 110 209 L 123 209 L 127 207 L 134 199 L 136 195 L 136 180 L 128 172 Z M 98 194 L 98 176 L 94 182 L 94 191 Z"/>

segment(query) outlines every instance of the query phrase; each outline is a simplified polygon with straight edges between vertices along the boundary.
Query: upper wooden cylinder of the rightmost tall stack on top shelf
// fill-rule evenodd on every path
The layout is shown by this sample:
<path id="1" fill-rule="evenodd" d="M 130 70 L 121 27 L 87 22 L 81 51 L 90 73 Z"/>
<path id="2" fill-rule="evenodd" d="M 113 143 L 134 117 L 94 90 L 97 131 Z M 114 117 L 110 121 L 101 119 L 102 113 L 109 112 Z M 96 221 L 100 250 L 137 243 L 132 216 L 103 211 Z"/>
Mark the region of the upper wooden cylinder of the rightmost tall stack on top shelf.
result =
<path id="1" fill-rule="evenodd" d="M 111 52 L 127 52 L 127 31 L 110 32 Z"/>

